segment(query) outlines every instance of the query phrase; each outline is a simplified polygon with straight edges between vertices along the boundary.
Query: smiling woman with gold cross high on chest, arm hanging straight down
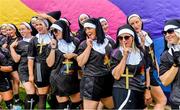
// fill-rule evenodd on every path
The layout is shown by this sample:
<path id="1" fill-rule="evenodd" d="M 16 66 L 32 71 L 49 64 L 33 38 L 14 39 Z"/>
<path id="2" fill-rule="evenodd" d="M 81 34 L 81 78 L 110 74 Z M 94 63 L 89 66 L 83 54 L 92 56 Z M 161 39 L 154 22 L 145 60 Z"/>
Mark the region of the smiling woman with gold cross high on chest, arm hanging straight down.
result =
<path id="1" fill-rule="evenodd" d="M 38 109 L 45 109 L 51 72 L 46 63 L 46 57 L 48 44 L 53 37 L 48 31 L 49 23 L 46 19 L 39 17 L 35 23 L 38 34 L 31 39 L 28 48 L 29 81 L 37 86 Z"/>

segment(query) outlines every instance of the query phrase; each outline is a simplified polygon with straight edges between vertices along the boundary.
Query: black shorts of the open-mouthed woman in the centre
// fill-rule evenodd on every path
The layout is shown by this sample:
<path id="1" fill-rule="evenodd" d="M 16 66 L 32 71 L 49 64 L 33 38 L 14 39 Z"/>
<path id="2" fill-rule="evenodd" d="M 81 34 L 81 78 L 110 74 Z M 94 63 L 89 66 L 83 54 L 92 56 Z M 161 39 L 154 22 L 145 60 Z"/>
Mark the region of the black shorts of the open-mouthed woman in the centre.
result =
<path id="1" fill-rule="evenodd" d="M 106 76 L 83 76 L 80 83 L 81 98 L 100 101 L 101 98 L 112 96 L 113 77 Z"/>

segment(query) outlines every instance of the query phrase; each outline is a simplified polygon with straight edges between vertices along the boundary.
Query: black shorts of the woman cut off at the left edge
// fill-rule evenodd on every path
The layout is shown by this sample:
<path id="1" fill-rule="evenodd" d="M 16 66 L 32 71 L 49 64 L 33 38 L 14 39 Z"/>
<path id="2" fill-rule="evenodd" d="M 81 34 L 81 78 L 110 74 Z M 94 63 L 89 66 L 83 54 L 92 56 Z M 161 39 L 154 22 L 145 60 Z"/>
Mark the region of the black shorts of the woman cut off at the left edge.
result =
<path id="1" fill-rule="evenodd" d="M 0 92 L 6 92 L 12 90 L 12 84 L 10 78 L 1 77 L 0 78 Z"/>

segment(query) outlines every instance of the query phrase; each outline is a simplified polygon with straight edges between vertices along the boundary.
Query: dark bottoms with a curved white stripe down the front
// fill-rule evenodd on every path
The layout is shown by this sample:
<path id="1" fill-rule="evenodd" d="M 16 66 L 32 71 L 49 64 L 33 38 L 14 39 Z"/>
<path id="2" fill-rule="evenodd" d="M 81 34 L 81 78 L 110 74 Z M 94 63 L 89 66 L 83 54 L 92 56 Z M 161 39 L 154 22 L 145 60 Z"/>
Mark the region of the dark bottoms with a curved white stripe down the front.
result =
<path id="1" fill-rule="evenodd" d="M 113 88 L 115 109 L 144 109 L 144 92 Z"/>

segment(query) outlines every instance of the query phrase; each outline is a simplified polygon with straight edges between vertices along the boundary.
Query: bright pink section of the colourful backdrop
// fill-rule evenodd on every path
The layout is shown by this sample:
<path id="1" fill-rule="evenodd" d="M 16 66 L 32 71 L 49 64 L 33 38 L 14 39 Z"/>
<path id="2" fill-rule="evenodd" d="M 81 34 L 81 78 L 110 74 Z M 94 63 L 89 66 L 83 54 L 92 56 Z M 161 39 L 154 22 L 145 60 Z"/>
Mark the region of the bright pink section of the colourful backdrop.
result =
<path id="1" fill-rule="evenodd" d="M 109 21 L 109 35 L 114 39 L 119 26 L 126 23 L 126 15 L 108 0 L 21 0 L 36 12 L 61 11 L 61 16 L 71 22 L 77 31 L 78 17 L 86 13 L 91 17 L 105 17 Z"/>

